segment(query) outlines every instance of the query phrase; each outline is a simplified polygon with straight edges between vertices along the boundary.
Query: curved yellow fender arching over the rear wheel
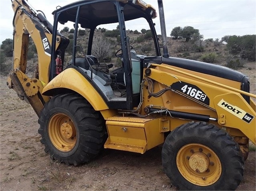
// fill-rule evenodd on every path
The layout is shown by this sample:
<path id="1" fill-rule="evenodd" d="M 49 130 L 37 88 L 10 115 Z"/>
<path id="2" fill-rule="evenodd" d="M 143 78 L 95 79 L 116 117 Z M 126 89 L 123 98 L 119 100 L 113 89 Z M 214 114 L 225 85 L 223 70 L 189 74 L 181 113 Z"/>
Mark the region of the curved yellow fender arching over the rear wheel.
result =
<path id="1" fill-rule="evenodd" d="M 66 69 L 52 79 L 43 89 L 42 95 L 53 96 L 60 89 L 70 89 L 83 96 L 97 111 L 107 110 L 109 107 L 81 73 L 73 68 Z"/>

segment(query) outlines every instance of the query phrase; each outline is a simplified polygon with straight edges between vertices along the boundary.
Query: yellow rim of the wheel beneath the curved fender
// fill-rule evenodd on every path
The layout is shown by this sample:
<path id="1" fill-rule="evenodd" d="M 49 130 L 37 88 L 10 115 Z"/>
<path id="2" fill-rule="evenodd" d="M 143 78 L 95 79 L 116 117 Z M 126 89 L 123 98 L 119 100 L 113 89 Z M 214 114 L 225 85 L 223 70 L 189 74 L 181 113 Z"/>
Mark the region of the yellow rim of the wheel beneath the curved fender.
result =
<path id="1" fill-rule="evenodd" d="M 48 123 L 48 135 L 53 146 L 61 152 L 71 151 L 77 142 L 73 121 L 64 113 L 54 114 Z"/>

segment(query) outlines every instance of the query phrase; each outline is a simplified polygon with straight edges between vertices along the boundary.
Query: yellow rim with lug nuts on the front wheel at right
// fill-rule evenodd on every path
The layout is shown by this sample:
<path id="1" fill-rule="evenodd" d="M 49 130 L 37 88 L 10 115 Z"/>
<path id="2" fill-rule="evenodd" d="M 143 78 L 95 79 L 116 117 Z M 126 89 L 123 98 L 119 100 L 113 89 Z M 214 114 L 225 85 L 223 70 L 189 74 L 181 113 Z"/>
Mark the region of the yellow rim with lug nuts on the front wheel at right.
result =
<path id="1" fill-rule="evenodd" d="M 216 153 L 202 144 L 187 144 L 176 156 L 177 168 L 189 182 L 208 186 L 220 178 L 222 166 Z"/>

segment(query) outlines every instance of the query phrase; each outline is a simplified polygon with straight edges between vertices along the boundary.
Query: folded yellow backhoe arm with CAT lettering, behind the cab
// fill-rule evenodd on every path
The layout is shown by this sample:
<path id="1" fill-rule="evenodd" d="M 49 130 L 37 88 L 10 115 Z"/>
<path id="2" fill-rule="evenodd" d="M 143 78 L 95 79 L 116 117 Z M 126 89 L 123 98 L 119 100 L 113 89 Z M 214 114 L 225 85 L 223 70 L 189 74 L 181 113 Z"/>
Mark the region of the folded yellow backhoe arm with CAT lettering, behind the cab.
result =
<path id="1" fill-rule="evenodd" d="M 50 81 L 52 26 L 26 0 L 12 1 L 12 8 L 14 10 L 13 71 L 9 74 L 7 84 L 10 89 L 16 91 L 20 99 L 31 104 L 39 116 L 44 102 L 49 100 L 48 96 L 42 96 L 41 93 L 43 87 Z M 38 54 L 38 66 L 35 68 L 34 78 L 26 75 L 29 36 L 34 41 Z M 58 33 L 56 51 L 65 49 L 68 42 Z"/>

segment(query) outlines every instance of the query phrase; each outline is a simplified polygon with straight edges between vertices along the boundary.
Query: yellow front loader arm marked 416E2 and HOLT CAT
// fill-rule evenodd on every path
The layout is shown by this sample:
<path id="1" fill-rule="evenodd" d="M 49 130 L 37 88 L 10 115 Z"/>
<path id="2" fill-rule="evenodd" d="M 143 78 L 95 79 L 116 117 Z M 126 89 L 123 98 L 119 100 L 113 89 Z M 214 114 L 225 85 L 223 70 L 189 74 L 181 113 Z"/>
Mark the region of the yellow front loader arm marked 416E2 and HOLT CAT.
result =
<path id="1" fill-rule="evenodd" d="M 249 104 L 242 95 L 254 98 L 256 95 L 185 73 L 173 67 L 159 64 L 151 64 L 151 67 L 145 69 L 147 77 L 171 88 L 173 92 L 215 111 L 219 126 L 238 129 L 255 144 L 255 103 L 250 99 Z M 169 73 L 162 69 L 169 70 Z M 163 100 L 163 102 L 165 101 Z"/>

